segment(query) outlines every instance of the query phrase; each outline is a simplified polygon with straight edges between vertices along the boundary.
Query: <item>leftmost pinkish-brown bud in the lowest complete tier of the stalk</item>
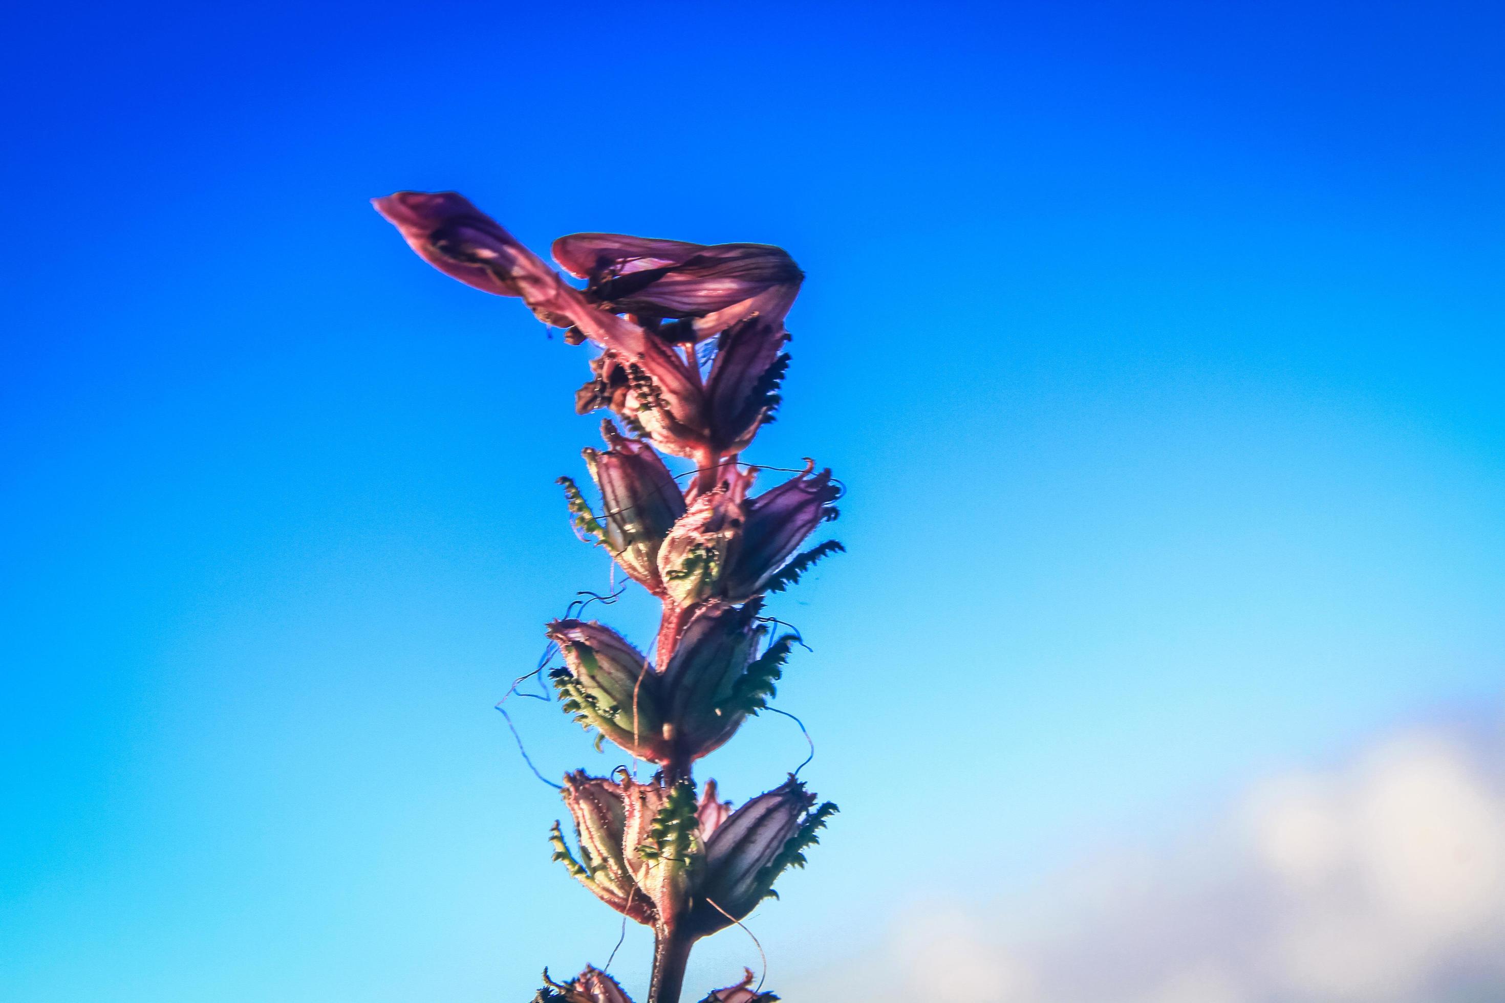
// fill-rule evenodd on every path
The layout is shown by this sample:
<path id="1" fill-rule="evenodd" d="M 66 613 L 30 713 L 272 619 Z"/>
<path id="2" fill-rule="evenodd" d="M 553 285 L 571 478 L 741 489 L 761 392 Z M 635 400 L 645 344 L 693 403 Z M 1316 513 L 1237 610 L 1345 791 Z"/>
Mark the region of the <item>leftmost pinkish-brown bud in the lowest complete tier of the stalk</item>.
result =
<path id="1" fill-rule="evenodd" d="M 554 823 L 549 833 L 554 859 L 611 908 L 640 923 L 652 923 L 656 917 L 653 902 L 638 889 L 623 851 L 628 815 L 623 786 L 576 770 L 564 774 L 560 794 L 575 820 L 579 857 L 570 853 L 558 823 Z"/>

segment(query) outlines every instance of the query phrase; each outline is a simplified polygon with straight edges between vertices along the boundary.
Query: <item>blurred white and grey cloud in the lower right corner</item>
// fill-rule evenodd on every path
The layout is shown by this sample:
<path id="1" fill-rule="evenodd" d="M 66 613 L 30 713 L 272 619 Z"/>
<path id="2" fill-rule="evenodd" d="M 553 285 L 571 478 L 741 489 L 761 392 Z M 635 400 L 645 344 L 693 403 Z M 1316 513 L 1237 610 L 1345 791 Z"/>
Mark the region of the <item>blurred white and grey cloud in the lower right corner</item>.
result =
<path id="1" fill-rule="evenodd" d="M 990 908 L 912 907 L 888 943 L 784 991 L 870 1003 L 1505 998 L 1502 752 L 1497 729 L 1392 732 L 1335 768 L 1254 785 L 1174 847 L 1084 862 Z"/>

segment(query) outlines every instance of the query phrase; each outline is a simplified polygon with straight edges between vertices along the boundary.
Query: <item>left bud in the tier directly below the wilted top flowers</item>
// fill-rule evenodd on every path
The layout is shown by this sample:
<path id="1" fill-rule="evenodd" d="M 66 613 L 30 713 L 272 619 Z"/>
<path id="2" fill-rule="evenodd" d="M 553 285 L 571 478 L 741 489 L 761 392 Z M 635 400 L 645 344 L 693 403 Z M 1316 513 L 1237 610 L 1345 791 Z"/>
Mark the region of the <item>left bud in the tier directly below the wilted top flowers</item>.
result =
<path id="1" fill-rule="evenodd" d="M 674 520 L 685 514 L 685 496 L 649 444 L 623 438 L 610 421 L 602 423 L 602 435 L 611 448 L 585 450 L 584 457 L 600 487 L 604 514 L 597 519 L 575 483 L 560 478 L 575 525 L 605 544 L 622 570 L 662 595 L 658 552 Z"/>

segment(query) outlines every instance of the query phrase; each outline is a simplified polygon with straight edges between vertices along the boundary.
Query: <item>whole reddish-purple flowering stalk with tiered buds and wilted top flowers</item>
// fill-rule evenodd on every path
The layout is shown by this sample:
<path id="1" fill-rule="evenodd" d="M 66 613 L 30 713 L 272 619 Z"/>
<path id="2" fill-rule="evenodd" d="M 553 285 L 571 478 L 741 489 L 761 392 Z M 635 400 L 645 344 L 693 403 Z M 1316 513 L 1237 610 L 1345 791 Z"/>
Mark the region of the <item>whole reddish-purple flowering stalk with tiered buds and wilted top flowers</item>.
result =
<path id="1" fill-rule="evenodd" d="M 597 747 L 611 741 L 656 767 L 647 780 L 578 770 L 561 794 L 575 823 L 558 823 L 554 859 L 602 902 L 653 928 L 647 1003 L 677 1003 L 694 943 L 737 923 L 837 809 L 795 776 L 740 808 L 715 780 L 697 785 L 695 759 L 768 707 L 795 635 L 771 636 L 763 598 L 795 583 L 828 541 L 801 543 L 837 514 L 838 487 L 814 463 L 754 495 L 756 466 L 739 460 L 772 421 L 789 355 L 784 316 L 804 274 L 780 248 L 706 247 L 616 233 L 575 233 L 554 259 L 578 289 L 455 192 L 400 191 L 373 200 L 426 262 L 476 289 L 518 296 L 570 344 L 591 343 L 591 379 L 576 411 L 607 411 L 604 450 L 584 451 L 600 510 L 560 478 L 578 532 L 662 603 L 647 653 L 613 629 L 555 620 L 548 636 L 564 665 L 551 672 L 563 707 Z M 661 454 L 694 463 L 682 490 Z M 552 982 L 536 1003 L 631 1003 L 587 967 Z M 704 1003 L 769 1003 L 752 976 Z"/>

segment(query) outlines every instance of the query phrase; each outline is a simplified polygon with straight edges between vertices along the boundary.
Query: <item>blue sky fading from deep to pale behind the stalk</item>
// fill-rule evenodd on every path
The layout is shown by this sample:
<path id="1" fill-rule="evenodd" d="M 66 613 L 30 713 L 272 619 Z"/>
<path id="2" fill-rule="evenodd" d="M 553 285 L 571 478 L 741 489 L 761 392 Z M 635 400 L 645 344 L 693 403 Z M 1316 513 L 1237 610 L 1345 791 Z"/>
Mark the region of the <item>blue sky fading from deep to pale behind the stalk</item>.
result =
<path id="1" fill-rule="evenodd" d="M 399 188 L 810 275 L 749 459 L 850 487 L 850 553 L 777 603 L 843 814 L 754 920 L 775 965 L 1500 693 L 1497 5 L 20 21 L 6 1000 L 524 1000 L 616 941 L 492 710 L 607 582 L 552 483 L 585 353 L 414 259 L 367 205 Z M 802 756 L 769 716 L 709 773 Z"/>

